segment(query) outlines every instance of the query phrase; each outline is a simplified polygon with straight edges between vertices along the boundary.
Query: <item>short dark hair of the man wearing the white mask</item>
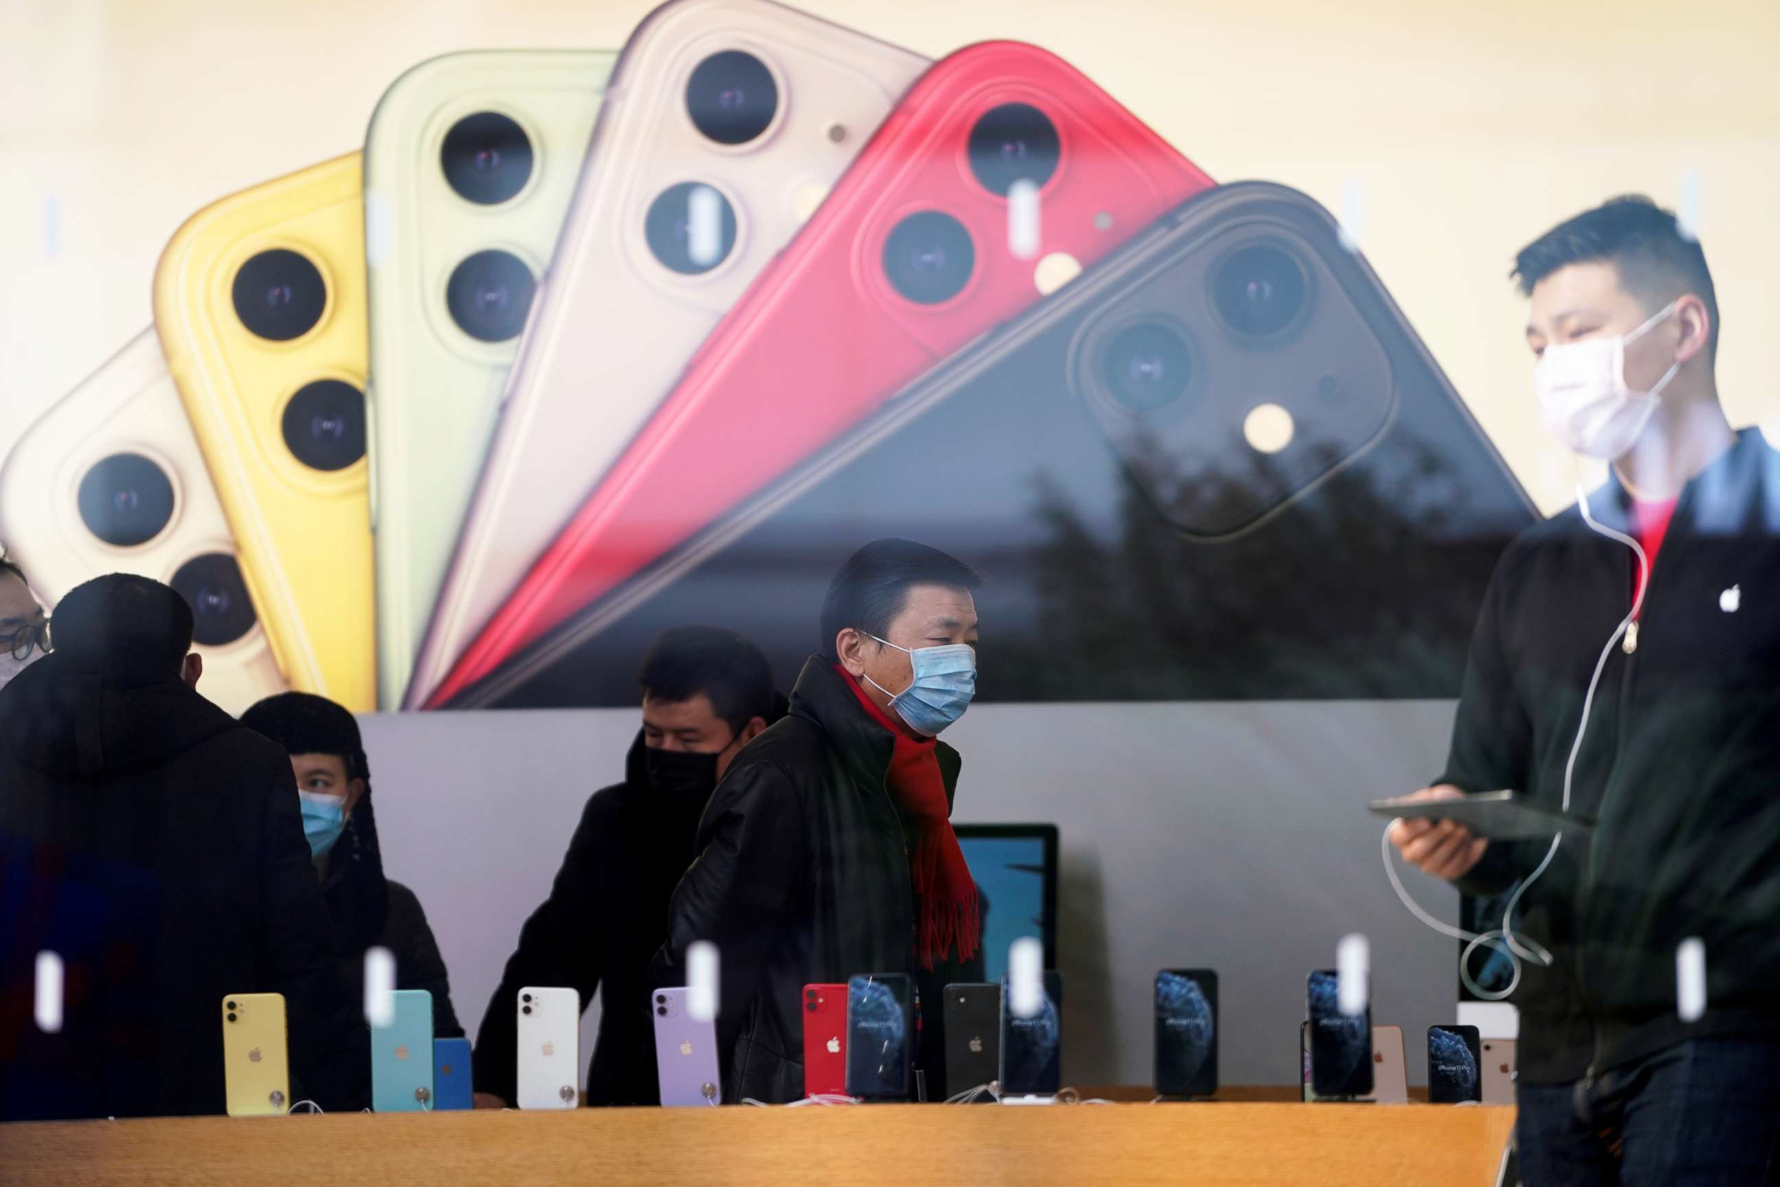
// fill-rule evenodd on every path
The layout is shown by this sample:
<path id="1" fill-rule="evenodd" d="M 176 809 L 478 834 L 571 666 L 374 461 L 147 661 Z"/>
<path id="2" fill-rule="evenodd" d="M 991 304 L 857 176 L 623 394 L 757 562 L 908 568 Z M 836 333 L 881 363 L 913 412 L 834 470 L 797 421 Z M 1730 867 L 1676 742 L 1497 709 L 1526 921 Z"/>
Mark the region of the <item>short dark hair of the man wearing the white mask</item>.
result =
<path id="1" fill-rule="evenodd" d="M 1614 198 L 1565 219 L 1520 249 L 1509 276 L 1520 283 L 1522 295 L 1533 295 L 1533 287 L 1558 269 L 1595 260 L 1613 263 L 1620 285 L 1650 313 L 1686 294 L 1705 301 L 1712 319 L 1707 358 L 1718 358 L 1718 292 L 1705 251 L 1682 233 L 1671 212 L 1643 194 Z"/>

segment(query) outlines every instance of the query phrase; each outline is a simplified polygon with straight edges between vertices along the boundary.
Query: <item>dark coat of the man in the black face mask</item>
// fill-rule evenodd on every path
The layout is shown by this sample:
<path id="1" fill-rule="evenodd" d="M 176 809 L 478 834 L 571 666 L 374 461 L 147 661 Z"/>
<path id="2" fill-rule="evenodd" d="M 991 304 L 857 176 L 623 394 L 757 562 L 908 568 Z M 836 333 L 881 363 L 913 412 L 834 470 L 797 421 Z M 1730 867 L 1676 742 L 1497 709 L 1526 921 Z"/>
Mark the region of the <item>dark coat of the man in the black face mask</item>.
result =
<path id="1" fill-rule="evenodd" d="M 514 1100 L 520 988 L 573 986 L 582 1009 L 602 993 L 587 1103 L 660 1103 L 653 1030 L 641 1011 L 653 988 L 650 957 L 668 938 L 668 897 L 692 860 L 694 829 L 696 817 L 651 803 L 639 733 L 625 758 L 625 781 L 587 797 L 550 897 L 525 920 L 520 947 L 507 957 L 475 1036 L 479 1093 Z"/>

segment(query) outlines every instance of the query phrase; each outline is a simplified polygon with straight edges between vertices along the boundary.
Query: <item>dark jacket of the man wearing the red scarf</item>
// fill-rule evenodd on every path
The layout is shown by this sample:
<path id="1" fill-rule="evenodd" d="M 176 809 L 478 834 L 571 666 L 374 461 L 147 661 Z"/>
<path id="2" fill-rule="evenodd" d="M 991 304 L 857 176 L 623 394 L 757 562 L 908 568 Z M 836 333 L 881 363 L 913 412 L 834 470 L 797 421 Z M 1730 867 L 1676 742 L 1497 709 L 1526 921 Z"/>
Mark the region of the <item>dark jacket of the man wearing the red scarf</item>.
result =
<path id="1" fill-rule="evenodd" d="M 790 714 L 737 756 L 705 808 L 651 988 L 684 986 L 687 945 L 716 941 L 726 1102 L 803 1096 L 803 986 L 917 973 L 904 824 L 885 788 L 892 746 L 840 673 L 812 657 Z M 951 803 L 958 751 L 940 742 L 938 758 Z M 943 979 L 918 977 L 934 1020 L 931 986 Z M 938 1027 L 927 1025 L 922 1055 L 934 1073 L 936 1046 Z"/>

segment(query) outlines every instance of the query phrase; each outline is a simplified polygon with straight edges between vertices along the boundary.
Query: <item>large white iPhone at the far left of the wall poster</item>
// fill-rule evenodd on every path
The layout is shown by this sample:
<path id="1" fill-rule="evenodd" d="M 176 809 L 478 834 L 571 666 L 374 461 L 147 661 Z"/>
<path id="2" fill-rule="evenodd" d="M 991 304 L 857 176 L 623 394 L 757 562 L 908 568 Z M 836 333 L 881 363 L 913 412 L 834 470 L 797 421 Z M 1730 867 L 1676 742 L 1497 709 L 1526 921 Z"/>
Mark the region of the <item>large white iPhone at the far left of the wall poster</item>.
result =
<path id="1" fill-rule="evenodd" d="M 226 712 L 285 690 L 153 329 L 12 447 L 0 468 L 0 541 L 52 614 L 105 573 L 173 585 L 192 607 L 205 696 Z"/>

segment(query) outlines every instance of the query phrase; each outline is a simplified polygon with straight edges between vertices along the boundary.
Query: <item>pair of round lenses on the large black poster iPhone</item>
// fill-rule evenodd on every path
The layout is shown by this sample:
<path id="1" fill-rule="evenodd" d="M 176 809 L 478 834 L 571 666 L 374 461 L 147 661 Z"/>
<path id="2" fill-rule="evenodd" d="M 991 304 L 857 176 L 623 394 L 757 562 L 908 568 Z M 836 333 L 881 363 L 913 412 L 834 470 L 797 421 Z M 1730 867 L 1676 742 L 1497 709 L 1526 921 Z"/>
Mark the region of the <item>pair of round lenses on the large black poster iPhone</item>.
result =
<path id="1" fill-rule="evenodd" d="M 1250 349 L 1273 349 L 1310 308 L 1310 276 L 1285 246 L 1250 242 L 1212 265 L 1209 303 L 1225 331 Z M 1193 384 L 1193 347 L 1166 320 L 1125 326 L 1100 352 L 1100 381 L 1129 413 L 1155 413 Z"/>

